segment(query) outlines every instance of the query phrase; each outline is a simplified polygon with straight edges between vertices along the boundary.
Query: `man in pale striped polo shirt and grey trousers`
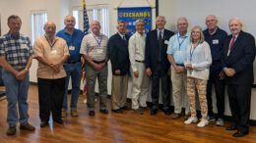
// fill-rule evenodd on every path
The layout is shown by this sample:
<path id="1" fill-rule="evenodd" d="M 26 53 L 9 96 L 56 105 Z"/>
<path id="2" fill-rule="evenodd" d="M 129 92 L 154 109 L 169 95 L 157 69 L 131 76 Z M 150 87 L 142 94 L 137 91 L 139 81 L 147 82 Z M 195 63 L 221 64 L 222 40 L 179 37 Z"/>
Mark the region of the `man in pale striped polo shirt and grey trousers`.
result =
<path id="1" fill-rule="evenodd" d="M 91 23 L 92 32 L 87 34 L 81 44 L 80 54 L 86 60 L 87 78 L 87 106 L 90 116 L 95 116 L 95 86 L 98 79 L 99 112 L 108 114 L 106 109 L 107 95 L 107 40 L 108 38 L 99 32 L 100 24 L 97 21 Z"/>

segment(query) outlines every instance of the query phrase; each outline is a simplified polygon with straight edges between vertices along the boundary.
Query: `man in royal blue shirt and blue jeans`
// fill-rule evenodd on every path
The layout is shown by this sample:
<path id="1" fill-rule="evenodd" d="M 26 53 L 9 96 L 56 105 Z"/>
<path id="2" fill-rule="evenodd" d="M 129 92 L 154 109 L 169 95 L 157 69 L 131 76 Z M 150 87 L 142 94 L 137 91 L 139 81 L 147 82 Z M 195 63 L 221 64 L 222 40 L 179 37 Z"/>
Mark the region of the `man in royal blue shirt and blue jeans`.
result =
<path id="1" fill-rule="evenodd" d="M 80 84 L 82 78 L 82 64 L 81 64 L 81 55 L 80 47 L 82 39 L 84 38 L 84 32 L 80 29 L 75 28 L 75 18 L 73 16 L 66 16 L 64 20 L 66 27 L 57 32 L 56 36 L 63 38 L 68 45 L 70 57 L 63 65 L 67 76 L 65 79 L 65 95 L 62 105 L 61 117 L 64 118 L 67 116 L 68 109 L 68 85 L 69 79 L 71 76 L 72 80 L 72 96 L 71 96 L 71 116 L 77 117 L 77 102 L 80 95 Z"/>

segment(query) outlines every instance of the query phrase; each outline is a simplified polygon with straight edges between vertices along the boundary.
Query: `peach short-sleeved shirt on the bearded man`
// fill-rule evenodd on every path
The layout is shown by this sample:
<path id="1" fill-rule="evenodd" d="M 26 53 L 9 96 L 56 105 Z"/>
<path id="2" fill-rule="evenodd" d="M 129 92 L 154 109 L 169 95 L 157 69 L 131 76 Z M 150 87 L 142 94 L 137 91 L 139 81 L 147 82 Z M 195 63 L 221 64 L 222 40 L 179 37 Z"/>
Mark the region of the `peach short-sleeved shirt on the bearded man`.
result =
<path id="1" fill-rule="evenodd" d="M 52 46 L 48 43 L 45 36 L 41 36 L 34 41 L 33 51 L 34 57 L 43 57 L 51 63 L 60 61 L 63 56 L 69 55 L 66 41 L 60 37 L 55 36 L 55 43 Z M 37 77 L 46 79 L 57 79 L 66 76 L 66 71 L 63 66 L 60 66 L 60 71 L 55 72 L 50 67 L 38 62 Z"/>

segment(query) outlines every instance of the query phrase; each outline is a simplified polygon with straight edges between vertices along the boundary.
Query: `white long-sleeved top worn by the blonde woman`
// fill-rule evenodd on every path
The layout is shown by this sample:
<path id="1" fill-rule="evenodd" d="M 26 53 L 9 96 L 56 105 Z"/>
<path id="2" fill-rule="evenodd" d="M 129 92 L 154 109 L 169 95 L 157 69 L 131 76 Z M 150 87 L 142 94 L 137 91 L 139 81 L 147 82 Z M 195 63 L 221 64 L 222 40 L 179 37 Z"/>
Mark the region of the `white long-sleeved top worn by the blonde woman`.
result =
<path id="1" fill-rule="evenodd" d="M 212 56 L 210 46 L 206 41 L 198 44 L 196 47 L 193 47 L 193 44 L 189 42 L 184 60 L 185 67 L 188 64 L 192 65 L 192 70 L 187 70 L 187 76 L 204 80 L 209 79 Z"/>

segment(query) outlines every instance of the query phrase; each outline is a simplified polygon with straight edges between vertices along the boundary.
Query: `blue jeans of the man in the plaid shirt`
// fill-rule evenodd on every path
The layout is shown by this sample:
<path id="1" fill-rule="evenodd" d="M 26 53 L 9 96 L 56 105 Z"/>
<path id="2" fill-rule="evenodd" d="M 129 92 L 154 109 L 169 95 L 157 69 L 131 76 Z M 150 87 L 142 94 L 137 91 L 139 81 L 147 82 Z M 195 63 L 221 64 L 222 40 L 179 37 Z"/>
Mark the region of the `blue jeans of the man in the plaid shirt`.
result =
<path id="1" fill-rule="evenodd" d="M 18 70 L 17 71 L 23 71 Z M 6 70 L 2 70 L 3 80 L 6 87 L 6 97 L 8 101 L 8 113 L 7 113 L 7 122 L 9 126 L 16 126 L 18 122 L 18 113 L 17 113 L 17 102 L 19 106 L 19 115 L 20 123 L 26 124 L 29 119 L 28 109 L 29 104 L 27 103 L 28 99 L 28 90 L 30 86 L 30 76 L 29 72 L 26 75 L 25 80 L 19 81 L 16 79 L 16 76 Z"/>

